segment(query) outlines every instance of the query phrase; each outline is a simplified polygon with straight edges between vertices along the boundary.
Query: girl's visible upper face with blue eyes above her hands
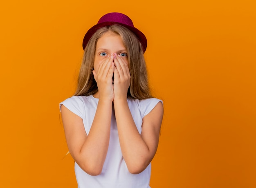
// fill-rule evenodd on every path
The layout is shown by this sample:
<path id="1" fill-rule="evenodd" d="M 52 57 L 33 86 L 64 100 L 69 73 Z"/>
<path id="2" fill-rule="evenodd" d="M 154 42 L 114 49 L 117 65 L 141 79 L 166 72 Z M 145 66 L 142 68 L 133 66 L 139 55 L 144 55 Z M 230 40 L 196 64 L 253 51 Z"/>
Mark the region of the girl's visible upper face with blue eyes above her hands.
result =
<path id="1" fill-rule="evenodd" d="M 106 32 L 99 38 L 95 57 L 94 57 L 94 70 L 97 73 L 99 64 L 105 60 L 112 53 L 119 54 L 128 65 L 127 49 L 124 46 L 121 36 L 111 31 Z"/>

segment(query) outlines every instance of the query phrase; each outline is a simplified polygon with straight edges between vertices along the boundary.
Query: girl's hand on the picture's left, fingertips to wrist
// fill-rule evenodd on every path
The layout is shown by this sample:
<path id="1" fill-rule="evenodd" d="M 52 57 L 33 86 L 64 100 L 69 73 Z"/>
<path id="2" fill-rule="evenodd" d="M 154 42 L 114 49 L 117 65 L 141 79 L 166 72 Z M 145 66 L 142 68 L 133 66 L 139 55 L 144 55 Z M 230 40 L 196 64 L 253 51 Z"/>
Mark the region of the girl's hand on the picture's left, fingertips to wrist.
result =
<path id="1" fill-rule="evenodd" d="M 97 82 L 97 87 L 99 90 L 99 98 L 104 100 L 114 100 L 114 90 L 113 90 L 113 73 L 114 73 L 114 56 L 111 54 L 106 57 L 101 63 L 97 72 L 92 71 L 95 81 Z M 95 66 L 95 64 L 94 64 Z"/>

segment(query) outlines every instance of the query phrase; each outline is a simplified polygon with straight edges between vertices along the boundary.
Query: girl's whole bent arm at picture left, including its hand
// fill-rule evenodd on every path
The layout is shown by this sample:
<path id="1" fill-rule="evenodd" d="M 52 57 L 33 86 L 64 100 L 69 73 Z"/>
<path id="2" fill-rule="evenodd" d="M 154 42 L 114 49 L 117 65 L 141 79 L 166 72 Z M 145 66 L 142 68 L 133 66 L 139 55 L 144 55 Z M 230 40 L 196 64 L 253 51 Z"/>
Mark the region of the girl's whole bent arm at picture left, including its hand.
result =
<path id="1" fill-rule="evenodd" d="M 76 163 L 89 175 L 99 175 L 108 152 L 110 123 L 112 115 L 113 58 L 108 57 L 93 71 L 99 89 L 99 103 L 89 134 L 84 129 L 83 120 L 61 106 L 61 116 L 67 146 Z"/>

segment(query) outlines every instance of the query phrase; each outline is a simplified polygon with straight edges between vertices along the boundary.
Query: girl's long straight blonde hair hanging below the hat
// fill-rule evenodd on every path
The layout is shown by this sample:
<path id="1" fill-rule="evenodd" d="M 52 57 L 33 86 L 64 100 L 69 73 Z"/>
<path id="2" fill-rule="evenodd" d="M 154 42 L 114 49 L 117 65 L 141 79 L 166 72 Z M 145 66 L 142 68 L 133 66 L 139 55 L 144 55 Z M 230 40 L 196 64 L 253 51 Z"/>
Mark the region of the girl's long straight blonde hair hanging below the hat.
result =
<path id="1" fill-rule="evenodd" d="M 121 36 L 128 52 L 128 63 L 130 69 L 130 87 L 127 97 L 135 99 L 152 98 L 146 69 L 146 62 L 141 43 L 134 33 L 121 25 L 111 25 L 98 29 L 90 38 L 85 47 L 83 60 L 79 72 L 76 96 L 89 96 L 98 91 L 97 83 L 94 80 L 92 70 L 94 67 L 94 56 L 97 41 L 106 32 L 111 31 Z"/>

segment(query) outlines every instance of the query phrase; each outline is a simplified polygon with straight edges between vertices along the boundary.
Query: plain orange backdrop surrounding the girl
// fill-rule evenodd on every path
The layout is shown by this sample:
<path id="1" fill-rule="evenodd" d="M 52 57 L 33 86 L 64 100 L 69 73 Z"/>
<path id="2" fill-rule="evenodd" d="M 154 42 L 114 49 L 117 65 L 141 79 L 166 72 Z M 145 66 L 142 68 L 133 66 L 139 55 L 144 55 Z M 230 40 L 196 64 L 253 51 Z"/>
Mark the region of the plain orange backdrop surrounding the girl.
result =
<path id="1" fill-rule="evenodd" d="M 150 185 L 255 188 L 254 2 L 1 1 L 0 187 L 76 187 L 58 103 L 74 93 L 85 32 L 117 11 L 147 36 L 164 100 Z"/>

